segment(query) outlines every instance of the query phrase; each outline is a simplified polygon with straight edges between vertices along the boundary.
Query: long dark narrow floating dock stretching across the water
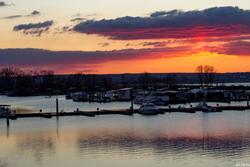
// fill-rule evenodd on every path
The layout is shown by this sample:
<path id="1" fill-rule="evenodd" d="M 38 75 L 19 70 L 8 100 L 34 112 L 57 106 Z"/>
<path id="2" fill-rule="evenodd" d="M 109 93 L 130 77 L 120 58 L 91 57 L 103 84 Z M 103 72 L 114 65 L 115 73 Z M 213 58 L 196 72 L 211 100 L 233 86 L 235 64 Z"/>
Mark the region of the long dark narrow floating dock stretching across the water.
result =
<path id="1" fill-rule="evenodd" d="M 57 101 L 57 100 L 56 100 Z M 247 103 L 248 104 L 248 103 Z M 152 104 L 151 104 L 152 105 Z M 10 105 L 1 105 L 2 107 L 10 107 Z M 150 107 L 150 106 L 149 106 Z M 211 106 L 208 106 L 211 107 Z M 152 107 L 151 107 L 152 108 Z M 142 112 L 141 109 L 103 109 L 99 110 L 92 110 L 92 111 L 82 111 L 77 108 L 75 111 L 72 112 L 66 112 L 66 111 L 61 111 L 59 112 L 59 109 L 57 109 L 57 112 L 42 112 L 42 110 L 39 110 L 39 112 L 35 113 L 16 113 L 15 110 L 9 110 L 8 114 L 2 115 L 2 118 L 9 118 L 12 120 L 16 120 L 17 118 L 33 118 L 33 117 L 41 117 L 41 118 L 52 118 L 52 117 L 65 117 L 65 116 L 87 116 L 87 117 L 95 117 L 97 115 L 134 115 L 134 114 L 142 114 L 142 115 L 158 115 L 158 114 L 165 114 L 165 113 L 172 113 L 172 112 L 183 112 L 183 113 L 196 113 L 196 112 L 223 112 L 223 111 L 228 111 L 228 110 L 234 110 L 234 111 L 247 111 L 250 110 L 250 106 L 236 106 L 236 105 L 231 105 L 231 106 L 215 106 L 212 107 L 213 110 L 208 111 L 204 110 L 204 106 L 194 106 L 194 107 L 157 107 L 154 108 L 153 110 L 149 108 L 148 110 L 150 111 L 144 111 Z"/>

